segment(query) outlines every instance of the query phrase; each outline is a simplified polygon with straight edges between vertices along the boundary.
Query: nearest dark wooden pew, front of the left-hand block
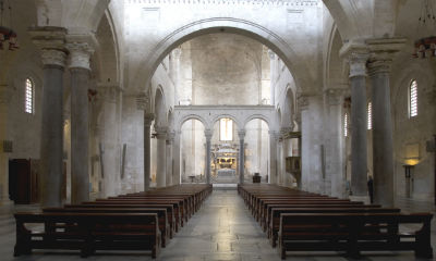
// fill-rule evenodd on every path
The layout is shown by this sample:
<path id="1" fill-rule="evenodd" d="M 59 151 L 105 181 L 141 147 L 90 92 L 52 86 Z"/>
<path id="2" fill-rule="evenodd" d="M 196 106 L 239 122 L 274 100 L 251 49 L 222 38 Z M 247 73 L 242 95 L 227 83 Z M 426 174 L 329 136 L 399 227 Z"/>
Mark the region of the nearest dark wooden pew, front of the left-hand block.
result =
<path id="1" fill-rule="evenodd" d="M 155 213 L 16 213 L 14 257 L 33 249 L 80 250 L 88 257 L 96 250 L 160 250 L 158 216 Z M 26 224 L 44 225 L 43 232 Z M 62 227 L 62 224 L 76 224 Z"/>

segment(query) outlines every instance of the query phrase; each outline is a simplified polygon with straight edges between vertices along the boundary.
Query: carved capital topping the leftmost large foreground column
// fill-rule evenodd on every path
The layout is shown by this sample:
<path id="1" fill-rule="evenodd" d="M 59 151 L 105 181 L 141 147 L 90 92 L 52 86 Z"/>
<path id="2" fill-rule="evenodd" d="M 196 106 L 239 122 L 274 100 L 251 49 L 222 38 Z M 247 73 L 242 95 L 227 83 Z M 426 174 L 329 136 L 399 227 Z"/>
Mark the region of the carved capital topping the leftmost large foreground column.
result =
<path id="1" fill-rule="evenodd" d="M 32 41 L 41 51 L 44 65 L 65 67 L 68 50 L 65 48 L 66 28 L 45 26 L 28 30 Z"/>

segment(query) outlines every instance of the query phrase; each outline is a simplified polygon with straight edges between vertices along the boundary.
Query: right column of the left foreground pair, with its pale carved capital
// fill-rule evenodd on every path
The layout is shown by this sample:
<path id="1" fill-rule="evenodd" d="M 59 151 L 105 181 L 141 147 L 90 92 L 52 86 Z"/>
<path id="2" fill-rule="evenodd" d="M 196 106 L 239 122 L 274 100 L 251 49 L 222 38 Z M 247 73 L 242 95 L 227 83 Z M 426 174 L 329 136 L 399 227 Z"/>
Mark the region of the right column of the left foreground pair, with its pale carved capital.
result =
<path id="1" fill-rule="evenodd" d="M 89 58 L 86 42 L 69 42 L 71 75 L 71 203 L 89 200 L 88 174 L 88 88 Z"/>

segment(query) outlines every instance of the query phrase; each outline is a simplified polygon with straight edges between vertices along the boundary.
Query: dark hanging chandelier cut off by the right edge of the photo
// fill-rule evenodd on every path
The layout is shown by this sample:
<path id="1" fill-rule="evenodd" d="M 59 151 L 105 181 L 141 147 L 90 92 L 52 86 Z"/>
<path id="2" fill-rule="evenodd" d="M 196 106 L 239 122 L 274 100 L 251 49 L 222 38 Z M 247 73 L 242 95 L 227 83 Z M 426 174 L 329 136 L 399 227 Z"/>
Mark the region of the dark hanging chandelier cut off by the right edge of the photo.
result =
<path id="1" fill-rule="evenodd" d="M 433 0 L 423 0 L 422 4 L 420 18 L 417 20 L 417 30 L 420 30 L 420 28 L 425 30 L 427 26 L 431 26 L 431 29 L 433 30 L 436 24 Z M 436 57 L 436 36 L 423 37 L 415 41 L 414 47 L 414 58 Z"/>

